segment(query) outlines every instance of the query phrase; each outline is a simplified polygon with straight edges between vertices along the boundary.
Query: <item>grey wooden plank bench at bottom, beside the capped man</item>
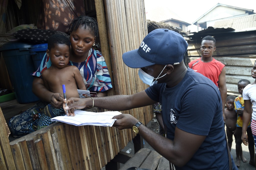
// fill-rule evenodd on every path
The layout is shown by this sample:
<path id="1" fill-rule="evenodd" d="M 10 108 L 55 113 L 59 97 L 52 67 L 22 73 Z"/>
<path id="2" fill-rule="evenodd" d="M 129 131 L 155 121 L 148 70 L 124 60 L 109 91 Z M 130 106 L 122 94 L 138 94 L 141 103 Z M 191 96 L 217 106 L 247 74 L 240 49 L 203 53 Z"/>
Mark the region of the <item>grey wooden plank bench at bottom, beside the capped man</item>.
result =
<path id="1" fill-rule="evenodd" d="M 151 170 L 169 170 L 169 161 L 154 150 L 142 148 L 136 152 L 119 170 L 130 167 L 147 168 Z"/>

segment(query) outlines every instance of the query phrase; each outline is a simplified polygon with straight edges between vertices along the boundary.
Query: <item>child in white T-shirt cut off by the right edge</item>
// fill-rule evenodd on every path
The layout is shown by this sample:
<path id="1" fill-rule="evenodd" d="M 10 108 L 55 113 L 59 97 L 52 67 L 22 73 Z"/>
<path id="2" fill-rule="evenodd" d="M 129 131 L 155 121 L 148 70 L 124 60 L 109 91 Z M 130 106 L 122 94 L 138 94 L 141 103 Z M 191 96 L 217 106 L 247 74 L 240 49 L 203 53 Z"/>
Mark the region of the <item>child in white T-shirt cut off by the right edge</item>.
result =
<path id="1" fill-rule="evenodd" d="M 256 78 L 256 61 L 252 67 L 251 75 L 252 75 L 252 78 L 254 79 Z M 248 144 L 250 144 L 249 134 L 246 134 L 250 120 L 251 120 L 252 135 L 253 135 L 254 141 L 256 141 L 256 80 L 253 83 L 248 84 L 243 89 L 243 100 L 244 100 L 244 110 L 243 110 L 243 126 L 242 126 L 241 139 L 243 144 L 247 146 Z M 255 148 L 256 148 L 256 144 L 255 144 Z M 254 166 L 255 166 L 255 158 L 256 156 L 254 156 L 254 162 L 253 162 Z M 251 165 L 253 165 L 253 163 L 251 163 Z"/>

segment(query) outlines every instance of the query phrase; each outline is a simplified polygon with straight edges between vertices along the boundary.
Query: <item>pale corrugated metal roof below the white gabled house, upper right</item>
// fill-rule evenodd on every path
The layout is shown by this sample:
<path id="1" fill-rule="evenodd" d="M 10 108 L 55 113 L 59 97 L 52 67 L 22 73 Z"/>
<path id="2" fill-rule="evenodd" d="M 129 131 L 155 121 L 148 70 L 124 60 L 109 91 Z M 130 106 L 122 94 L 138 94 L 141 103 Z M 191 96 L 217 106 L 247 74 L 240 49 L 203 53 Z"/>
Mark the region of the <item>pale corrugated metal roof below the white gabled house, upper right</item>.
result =
<path id="1" fill-rule="evenodd" d="M 216 21 L 213 27 L 233 28 L 236 31 L 244 30 L 246 28 L 253 28 L 253 27 L 255 27 L 256 29 L 256 14 Z"/>

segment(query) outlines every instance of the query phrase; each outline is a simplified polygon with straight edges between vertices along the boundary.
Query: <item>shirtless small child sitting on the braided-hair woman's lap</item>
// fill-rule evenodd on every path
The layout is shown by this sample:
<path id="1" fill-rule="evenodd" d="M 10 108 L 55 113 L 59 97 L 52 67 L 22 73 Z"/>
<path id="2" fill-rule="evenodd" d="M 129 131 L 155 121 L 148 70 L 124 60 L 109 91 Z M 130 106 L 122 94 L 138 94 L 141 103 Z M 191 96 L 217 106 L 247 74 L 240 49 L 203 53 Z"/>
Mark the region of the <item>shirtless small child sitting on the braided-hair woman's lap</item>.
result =
<path id="1" fill-rule="evenodd" d="M 42 79 L 45 87 L 51 92 L 63 93 L 62 85 L 65 84 L 67 98 L 79 98 L 77 89 L 86 90 L 86 87 L 78 68 L 68 65 L 69 53 L 69 39 L 59 34 L 52 35 L 48 40 L 48 49 L 46 50 L 52 65 L 42 72 Z"/>

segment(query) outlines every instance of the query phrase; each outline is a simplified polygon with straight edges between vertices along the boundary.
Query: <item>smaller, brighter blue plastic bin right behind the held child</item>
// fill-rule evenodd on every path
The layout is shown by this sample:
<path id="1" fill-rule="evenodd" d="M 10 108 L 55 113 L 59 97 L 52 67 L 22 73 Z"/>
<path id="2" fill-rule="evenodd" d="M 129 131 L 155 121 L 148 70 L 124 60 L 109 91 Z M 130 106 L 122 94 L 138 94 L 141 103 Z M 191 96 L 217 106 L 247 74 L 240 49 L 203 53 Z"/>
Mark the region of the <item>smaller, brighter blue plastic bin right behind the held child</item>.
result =
<path id="1" fill-rule="evenodd" d="M 46 50 L 47 50 L 48 44 L 36 44 L 34 46 L 31 47 L 31 49 L 29 50 L 33 62 L 34 62 L 34 66 L 35 69 L 37 70 L 38 67 L 41 64 L 42 59 L 44 58 L 45 54 L 46 54 Z"/>

